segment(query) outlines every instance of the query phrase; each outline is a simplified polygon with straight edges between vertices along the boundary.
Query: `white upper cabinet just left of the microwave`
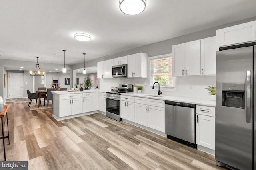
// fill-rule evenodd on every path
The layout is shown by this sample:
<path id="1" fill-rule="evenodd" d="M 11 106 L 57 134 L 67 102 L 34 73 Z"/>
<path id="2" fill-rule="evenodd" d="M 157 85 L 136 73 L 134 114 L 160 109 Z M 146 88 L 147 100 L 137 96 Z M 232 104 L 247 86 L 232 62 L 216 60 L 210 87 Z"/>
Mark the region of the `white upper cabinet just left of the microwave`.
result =
<path id="1" fill-rule="evenodd" d="M 105 60 L 97 63 L 97 78 L 110 78 L 110 61 Z M 112 66 L 111 66 L 112 70 Z"/>

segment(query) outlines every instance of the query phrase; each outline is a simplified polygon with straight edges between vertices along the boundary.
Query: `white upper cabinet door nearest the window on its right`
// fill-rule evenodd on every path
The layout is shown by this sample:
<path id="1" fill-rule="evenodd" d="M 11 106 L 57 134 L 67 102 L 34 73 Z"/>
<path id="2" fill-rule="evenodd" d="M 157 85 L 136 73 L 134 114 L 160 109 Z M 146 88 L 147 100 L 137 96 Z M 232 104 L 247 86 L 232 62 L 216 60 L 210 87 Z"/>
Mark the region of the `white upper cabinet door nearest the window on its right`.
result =
<path id="1" fill-rule="evenodd" d="M 185 44 L 172 46 L 172 76 L 183 76 L 185 70 Z"/>

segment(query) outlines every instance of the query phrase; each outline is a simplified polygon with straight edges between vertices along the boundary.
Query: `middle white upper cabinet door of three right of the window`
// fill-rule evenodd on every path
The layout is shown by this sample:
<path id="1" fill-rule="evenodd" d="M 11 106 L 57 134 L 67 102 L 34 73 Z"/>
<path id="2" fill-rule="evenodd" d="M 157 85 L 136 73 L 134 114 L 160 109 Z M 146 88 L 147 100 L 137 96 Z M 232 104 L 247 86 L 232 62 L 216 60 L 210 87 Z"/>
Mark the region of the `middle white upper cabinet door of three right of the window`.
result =
<path id="1" fill-rule="evenodd" d="M 200 40 L 185 43 L 185 75 L 200 75 Z"/>

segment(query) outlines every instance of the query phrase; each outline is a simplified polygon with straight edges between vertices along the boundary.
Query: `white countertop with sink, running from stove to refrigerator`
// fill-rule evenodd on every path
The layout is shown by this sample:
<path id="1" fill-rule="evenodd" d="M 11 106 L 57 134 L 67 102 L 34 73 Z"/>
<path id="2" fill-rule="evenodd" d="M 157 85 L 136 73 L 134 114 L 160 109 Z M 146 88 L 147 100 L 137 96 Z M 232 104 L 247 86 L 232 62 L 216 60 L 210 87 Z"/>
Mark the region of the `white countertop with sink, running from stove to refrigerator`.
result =
<path id="1" fill-rule="evenodd" d="M 154 95 L 154 96 L 158 96 L 158 95 L 157 94 L 146 94 L 146 93 L 122 93 L 121 95 L 150 98 L 150 99 L 157 99 L 157 100 L 169 100 L 169 101 L 174 101 L 174 102 L 184 102 L 184 103 L 191 103 L 191 104 L 215 107 L 215 101 L 205 100 L 205 99 L 166 96 L 166 95 L 160 95 L 162 97 L 149 97 L 147 95 Z"/>

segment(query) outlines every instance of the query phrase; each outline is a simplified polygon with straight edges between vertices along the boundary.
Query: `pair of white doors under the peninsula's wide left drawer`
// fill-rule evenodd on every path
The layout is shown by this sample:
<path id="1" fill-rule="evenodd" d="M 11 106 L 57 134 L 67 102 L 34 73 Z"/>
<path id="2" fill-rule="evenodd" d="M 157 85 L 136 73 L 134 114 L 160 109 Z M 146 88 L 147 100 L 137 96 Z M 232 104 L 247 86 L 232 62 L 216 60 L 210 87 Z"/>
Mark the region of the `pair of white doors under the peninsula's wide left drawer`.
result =
<path id="1" fill-rule="evenodd" d="M 60 117 L 82 113 L 82 98 L 60 100 Z"/>

